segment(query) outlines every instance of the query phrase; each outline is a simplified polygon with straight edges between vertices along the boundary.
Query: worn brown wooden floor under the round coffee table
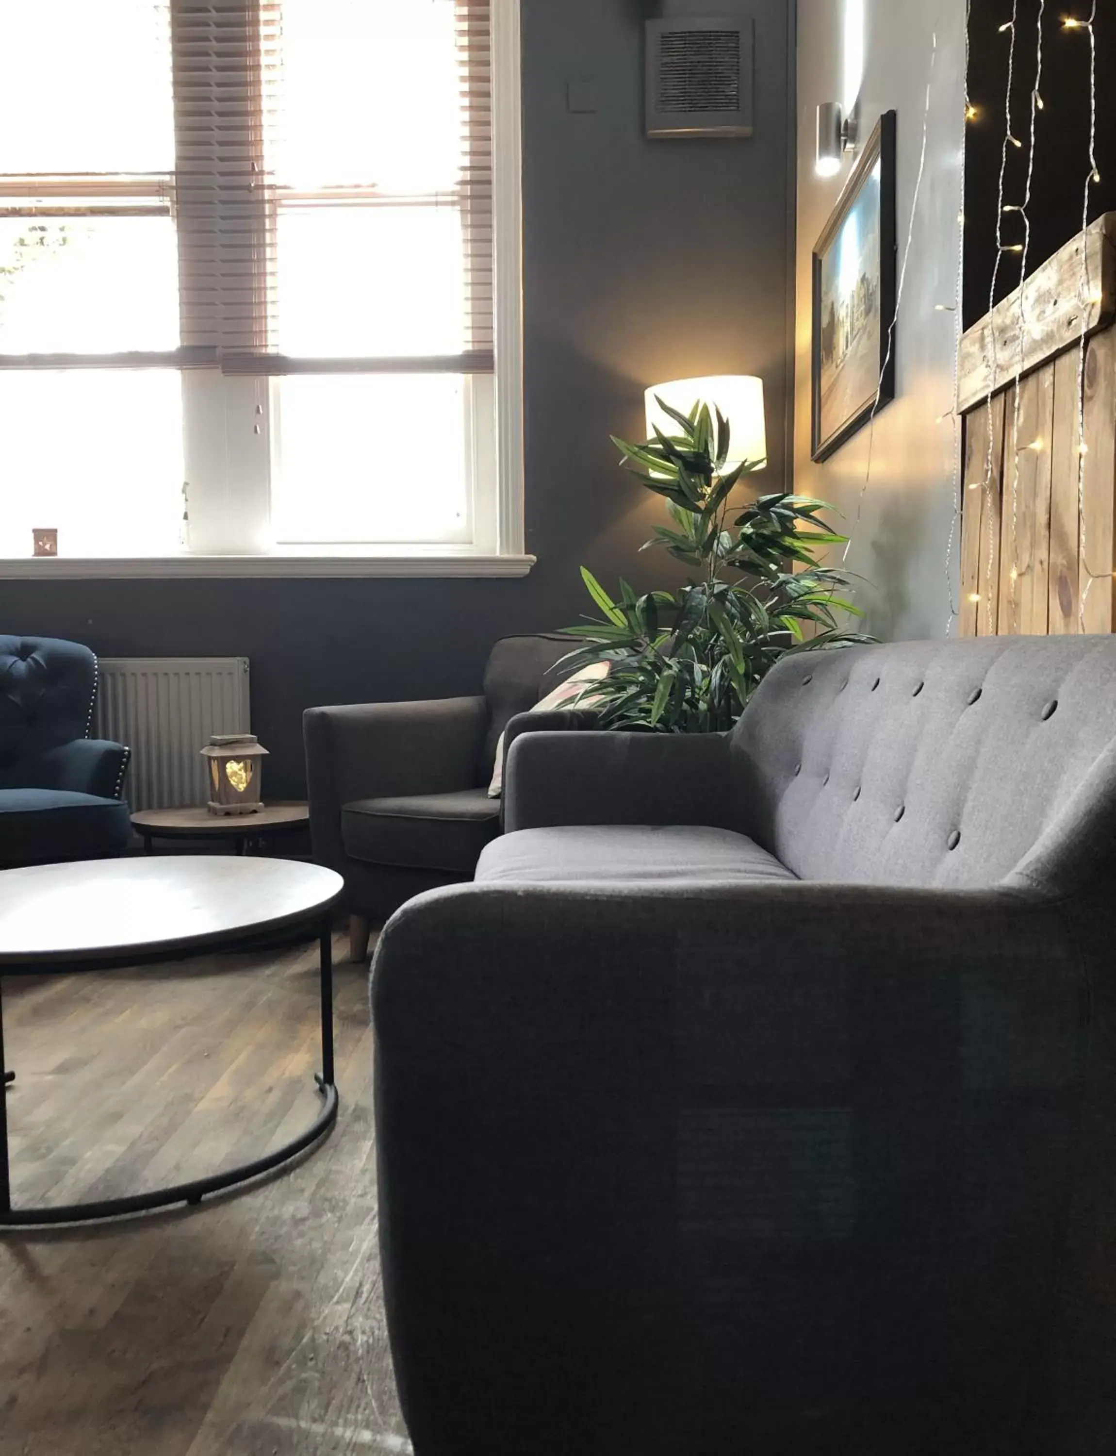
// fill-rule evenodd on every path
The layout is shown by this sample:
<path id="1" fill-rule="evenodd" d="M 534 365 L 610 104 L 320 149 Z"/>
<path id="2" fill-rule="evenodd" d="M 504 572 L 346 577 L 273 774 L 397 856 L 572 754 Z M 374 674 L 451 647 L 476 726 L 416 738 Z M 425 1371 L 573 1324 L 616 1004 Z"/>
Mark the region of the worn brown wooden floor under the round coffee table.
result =
<path id="1" fill-rule="evenodd" d="M 16 1206 L 243 1162 L 319 1107 L 314 946 L 9 977 L 4 1021 Z M 377 1257 L 367 973 L 345 961 L 336 1026 L 340 1120 L 297 1168 L 192 1211 L 0 1235 L 1 1456 L 410 1452 Z"/>

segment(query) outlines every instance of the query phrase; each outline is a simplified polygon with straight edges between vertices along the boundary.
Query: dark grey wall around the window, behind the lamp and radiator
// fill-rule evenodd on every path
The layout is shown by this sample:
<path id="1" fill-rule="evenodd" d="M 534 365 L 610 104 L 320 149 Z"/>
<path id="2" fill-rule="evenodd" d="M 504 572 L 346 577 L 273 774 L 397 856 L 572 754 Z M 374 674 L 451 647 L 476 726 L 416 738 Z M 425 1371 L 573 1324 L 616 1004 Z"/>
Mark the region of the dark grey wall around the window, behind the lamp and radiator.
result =
<path id="1" fill-rule="evenodd" d="M 508 632 L 576 620 L 581 562 L 672 581 L 636 558 L 652 510 L 610 432 L 642 438 L 646 384 L 758 373 L 771 473 L 786 463 L 789 0 L 757 20 L 757 135 L 646 141 L 642 0 L 524 0 L 527 524 L 524 581 L 0 581 L 0 630 L 102 655 L 244 654 L 268 791 L 303 791 L 311 703 L 474 692 Z M 599 109 L 570 114 L 569 80 Z M 658 575 L 655 575 L 658 574 Z"/>

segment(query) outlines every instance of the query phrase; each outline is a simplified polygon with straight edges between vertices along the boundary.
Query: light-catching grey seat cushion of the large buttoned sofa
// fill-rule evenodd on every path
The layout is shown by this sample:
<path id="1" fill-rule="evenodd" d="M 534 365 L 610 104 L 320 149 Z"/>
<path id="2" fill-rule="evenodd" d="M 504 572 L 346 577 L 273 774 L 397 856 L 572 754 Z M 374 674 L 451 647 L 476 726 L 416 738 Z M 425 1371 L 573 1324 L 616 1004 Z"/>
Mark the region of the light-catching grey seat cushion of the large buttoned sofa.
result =
<path id="1" fill-rule="evenodd" d="M 521 828 L 485 850 L 485 884 L 674 885 L 793 881 L 765 849 L 728 828 L 681 824 L 557 826 Z"/>

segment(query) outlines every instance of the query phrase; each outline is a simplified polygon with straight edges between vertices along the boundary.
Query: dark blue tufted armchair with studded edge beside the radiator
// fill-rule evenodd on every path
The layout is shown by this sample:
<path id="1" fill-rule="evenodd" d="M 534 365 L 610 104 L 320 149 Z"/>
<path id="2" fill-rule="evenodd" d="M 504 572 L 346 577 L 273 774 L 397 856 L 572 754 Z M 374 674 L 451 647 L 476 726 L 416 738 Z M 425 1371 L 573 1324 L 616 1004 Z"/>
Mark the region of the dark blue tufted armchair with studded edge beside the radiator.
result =
<path id="1" fill-rule="evenodd" d="M 87 646 L 0 636 L 0 866 L 127 847 L 131 750 L 89 737 L 96 690 Z"/>

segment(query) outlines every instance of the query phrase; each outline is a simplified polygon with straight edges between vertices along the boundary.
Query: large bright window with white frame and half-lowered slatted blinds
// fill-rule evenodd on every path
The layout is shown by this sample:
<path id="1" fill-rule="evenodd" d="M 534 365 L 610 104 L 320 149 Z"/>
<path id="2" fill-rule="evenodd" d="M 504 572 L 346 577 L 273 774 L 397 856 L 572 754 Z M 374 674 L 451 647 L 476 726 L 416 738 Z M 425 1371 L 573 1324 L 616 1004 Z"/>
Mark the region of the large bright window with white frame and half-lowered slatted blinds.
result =
<path id="1" fill-rule="evenodd" d="M 530 566 L 517 4 L 15 9 L 4 569 Z"/>

